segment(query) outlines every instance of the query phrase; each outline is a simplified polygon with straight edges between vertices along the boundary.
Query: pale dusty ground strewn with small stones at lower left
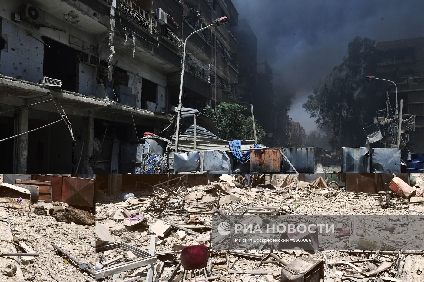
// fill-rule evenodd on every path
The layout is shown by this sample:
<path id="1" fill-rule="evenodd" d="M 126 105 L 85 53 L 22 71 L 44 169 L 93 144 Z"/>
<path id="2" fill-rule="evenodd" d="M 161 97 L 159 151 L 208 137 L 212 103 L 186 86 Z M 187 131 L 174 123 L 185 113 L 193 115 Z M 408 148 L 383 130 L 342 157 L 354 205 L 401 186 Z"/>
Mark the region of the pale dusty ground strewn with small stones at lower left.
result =
<path id="1" fill-rule="evenodd" d="M 10 205 L 28 206 L 28 201 L 20 203 L 11 202 L 11 198 L 3 198 L 10 202 Z M 31 216 L 18 210 L 7 209 L 7 216 L 10 218 L 12 234 L 15 238 L 34 249 L 39 254 L 30 265 L 20 263 L 20 268 L 25 277 L 25 281 L 57 281 L 57 282 L 89 282 L 95 281 L 85 272 L 81 272 L 71 261 L 64 260 L 65 257 L 56 254 L 51 243 L 56 243 L 65 252 L 68 252 L 82 263 L 86 262 L 94 269 L 95 249 L 95 226 L 76 225 L 57 222 L 53 216 L 48 214 L 48 210 L 54 205 L 63 203 L 41 203 L 47 210 L 47 216 L 33 213 L 34 205 L 31 208 Z M 64 204 L 66 205 L 66 204 Z M 90 246 L 91 245 L 91 246 Z M 3 250 L 0 250 L 3 252 Z M 10 252 L 10 251 L 7 251 Z M 17 257 L 19 261 L 20 258 Z M 0 281 L 15 281 L 2 275 Z M 18 281 L 18 280 L 16 280 Z"/>

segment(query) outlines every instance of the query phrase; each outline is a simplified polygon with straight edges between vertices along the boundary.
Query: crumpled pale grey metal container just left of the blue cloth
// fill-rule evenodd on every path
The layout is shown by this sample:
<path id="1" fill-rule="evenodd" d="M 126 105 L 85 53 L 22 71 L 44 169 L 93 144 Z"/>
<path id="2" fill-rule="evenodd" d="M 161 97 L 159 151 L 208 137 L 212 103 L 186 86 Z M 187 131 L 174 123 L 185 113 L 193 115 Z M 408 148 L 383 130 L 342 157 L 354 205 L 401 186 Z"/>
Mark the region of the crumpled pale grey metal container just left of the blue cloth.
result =
<path id="1" fill-rule="evenodd" d="M 200 151 L 201 168 L 203 171 L 218 173 L 232 171 L 233 159 L 224 151 Z"/>

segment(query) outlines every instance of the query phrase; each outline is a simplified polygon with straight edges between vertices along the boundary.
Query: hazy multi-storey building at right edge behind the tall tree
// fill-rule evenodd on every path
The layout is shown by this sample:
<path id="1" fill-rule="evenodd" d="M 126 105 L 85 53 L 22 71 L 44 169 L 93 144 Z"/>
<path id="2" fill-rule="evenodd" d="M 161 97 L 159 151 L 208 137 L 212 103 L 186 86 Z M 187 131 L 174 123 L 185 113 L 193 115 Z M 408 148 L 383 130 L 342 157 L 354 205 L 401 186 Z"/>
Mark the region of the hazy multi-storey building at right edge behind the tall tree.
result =
<path id="1" fill-rule="evenodd" d="M 416 115 L 415 131 L 406 132 L 410 140 L 408 149 L 424 154 L 424 37 L 378 42 L 377 54 L 375 76 L 395 82 L 398 103 L 403 100 L 403 113 Z M 382 97 L 389 91 L 391 106 L 395 107 L 393 84 L 376 80 L 375 90 Z"/>

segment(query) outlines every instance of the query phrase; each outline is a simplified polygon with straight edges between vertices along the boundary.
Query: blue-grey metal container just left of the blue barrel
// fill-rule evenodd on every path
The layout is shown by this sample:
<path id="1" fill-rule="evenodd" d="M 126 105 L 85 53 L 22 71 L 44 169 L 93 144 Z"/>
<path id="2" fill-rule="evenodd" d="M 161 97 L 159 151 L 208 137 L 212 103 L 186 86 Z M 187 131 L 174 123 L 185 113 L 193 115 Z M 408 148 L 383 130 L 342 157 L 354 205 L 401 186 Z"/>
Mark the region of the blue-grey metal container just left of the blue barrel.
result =
<path id="1" fill-rule="evenodd" d="M 371 148 L 371 172 L 400 173 L 400 149 Z"/>

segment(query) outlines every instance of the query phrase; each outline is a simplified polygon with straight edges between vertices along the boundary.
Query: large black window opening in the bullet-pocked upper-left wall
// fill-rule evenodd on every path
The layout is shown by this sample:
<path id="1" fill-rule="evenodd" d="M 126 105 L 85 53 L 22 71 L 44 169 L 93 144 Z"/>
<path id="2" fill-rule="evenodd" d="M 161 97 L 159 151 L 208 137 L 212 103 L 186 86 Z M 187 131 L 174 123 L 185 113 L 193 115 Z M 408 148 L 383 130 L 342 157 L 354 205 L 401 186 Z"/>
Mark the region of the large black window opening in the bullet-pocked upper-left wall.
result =
<path id="1" fill-rule="evenodd" d="M 78 51 L 42 36 L 44 46 L 43 75 L 62 80 L 61 89 L 78 92 Z"/>

